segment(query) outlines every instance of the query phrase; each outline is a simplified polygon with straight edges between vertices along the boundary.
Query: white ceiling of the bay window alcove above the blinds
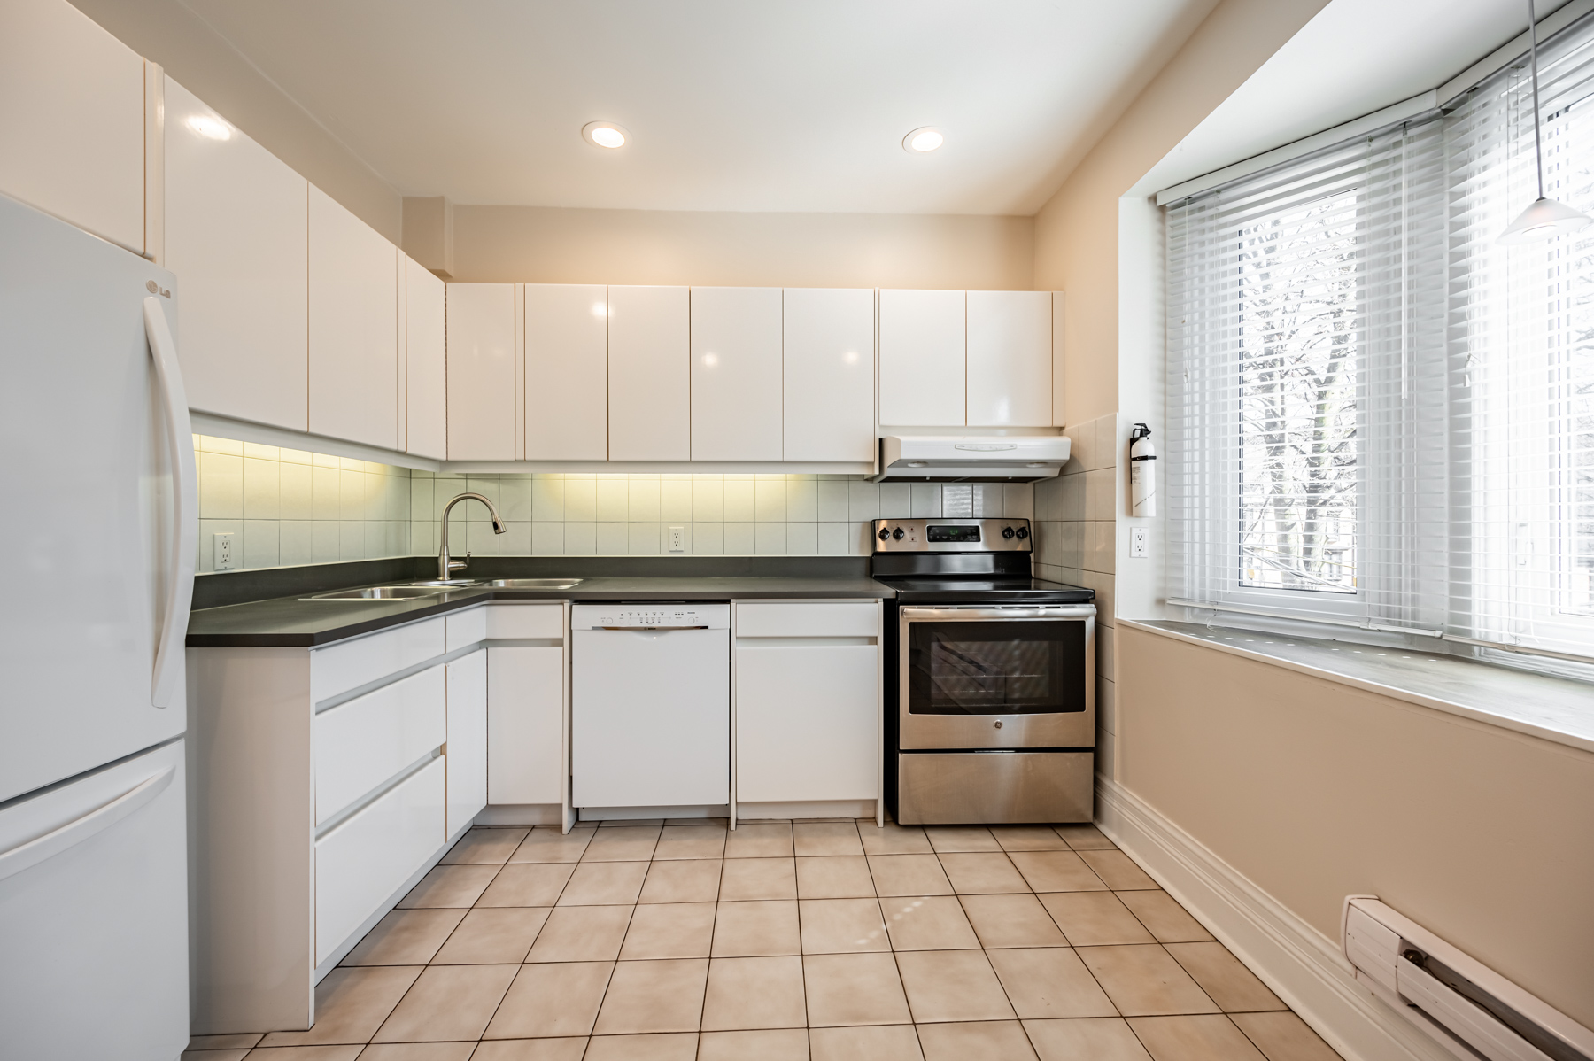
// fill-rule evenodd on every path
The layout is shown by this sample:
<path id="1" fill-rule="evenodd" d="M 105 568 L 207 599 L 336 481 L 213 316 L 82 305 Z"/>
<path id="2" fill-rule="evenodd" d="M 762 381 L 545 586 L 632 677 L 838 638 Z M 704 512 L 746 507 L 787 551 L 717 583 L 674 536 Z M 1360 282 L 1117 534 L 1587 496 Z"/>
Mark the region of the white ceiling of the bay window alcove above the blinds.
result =
<path id="1" fill-rule="evenodd" d="M 1538 18 L 1565 3 L 1538 0 Z M 1133 194 L 1172 188 L 1439 88 L 1525 29 L 1521 0 L 1333 0 Z"/>

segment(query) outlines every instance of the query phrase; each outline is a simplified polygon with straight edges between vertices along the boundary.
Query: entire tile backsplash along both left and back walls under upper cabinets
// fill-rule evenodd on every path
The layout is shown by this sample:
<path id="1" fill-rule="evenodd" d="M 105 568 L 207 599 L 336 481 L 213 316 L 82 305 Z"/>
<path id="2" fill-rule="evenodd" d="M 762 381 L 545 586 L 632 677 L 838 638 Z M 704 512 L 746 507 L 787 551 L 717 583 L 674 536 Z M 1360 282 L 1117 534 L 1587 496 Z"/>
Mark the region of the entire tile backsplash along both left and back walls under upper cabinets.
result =
<path id="1" fill-rule="evenodd" d="M 1033 518 L 1035 489 L 1003 483 L 867 483 L 856 475 L 443 475 L 194 435 L 198 570 L 231 532 L 238 569 L 437 553 L 437 519 L 462 492 L 450 551 L 478 556 L 866 556 L 869 523 L 909 516 Z"/>

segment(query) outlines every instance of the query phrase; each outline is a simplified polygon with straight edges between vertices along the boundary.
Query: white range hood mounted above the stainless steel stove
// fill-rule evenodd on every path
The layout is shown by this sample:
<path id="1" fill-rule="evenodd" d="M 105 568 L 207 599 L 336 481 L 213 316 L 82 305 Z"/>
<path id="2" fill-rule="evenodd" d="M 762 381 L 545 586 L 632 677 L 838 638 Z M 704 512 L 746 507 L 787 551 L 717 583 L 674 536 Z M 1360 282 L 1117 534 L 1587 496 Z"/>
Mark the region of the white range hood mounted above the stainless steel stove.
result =
<path id="1" fill-rule="evenodd" d="M 880 475 L 870 478 L 1033 483 L 1054 478 L 1065 464 L 1065 435 L 888 435 L 880 440 Z"/>

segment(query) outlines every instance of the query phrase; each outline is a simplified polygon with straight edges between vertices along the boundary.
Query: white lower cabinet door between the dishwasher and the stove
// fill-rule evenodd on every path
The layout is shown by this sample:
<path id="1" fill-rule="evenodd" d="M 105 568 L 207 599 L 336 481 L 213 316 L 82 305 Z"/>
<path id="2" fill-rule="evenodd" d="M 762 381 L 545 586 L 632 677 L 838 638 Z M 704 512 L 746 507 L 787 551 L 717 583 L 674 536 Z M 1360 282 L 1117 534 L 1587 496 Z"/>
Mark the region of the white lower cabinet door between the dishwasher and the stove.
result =
<path id="1" fill-rule="evenodd" d="M 736 800 L 880 793 L 875 645 L 736 645 Z"/>

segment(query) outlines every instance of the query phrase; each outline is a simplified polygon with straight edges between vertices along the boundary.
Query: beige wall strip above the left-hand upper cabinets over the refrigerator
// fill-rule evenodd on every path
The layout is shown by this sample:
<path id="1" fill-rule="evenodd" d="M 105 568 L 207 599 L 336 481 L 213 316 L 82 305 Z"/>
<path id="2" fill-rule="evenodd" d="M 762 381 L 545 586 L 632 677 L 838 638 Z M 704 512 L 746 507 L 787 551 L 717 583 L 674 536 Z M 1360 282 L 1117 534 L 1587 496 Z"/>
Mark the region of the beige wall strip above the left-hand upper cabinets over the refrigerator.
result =
<path id="1" fill-rule="evenodd" d="M 72 0 L 378 233 L 400 242 L 398 193 L 180 0 Z"/>

